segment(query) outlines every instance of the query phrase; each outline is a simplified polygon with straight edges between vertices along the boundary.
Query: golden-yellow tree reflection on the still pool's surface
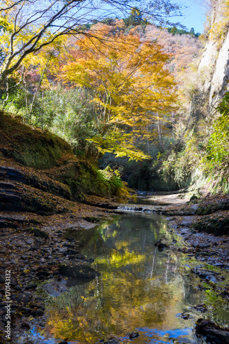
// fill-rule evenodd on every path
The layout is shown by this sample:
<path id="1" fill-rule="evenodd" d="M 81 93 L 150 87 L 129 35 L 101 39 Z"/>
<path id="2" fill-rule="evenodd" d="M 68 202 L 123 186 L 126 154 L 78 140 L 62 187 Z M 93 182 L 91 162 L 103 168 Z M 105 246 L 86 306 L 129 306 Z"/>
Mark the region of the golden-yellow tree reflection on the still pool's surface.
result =
<path id="1" fill-rule="evenodd" d="M 108 247 L 108 240 L 111 244 L 106 255 L 96 259 L 101 275 L 52 301 L 48 330 L 56 338 L 92 344 L 109 334 L 124 336 L 136 327 L 171 328 L 170 314 L 177 319 L 174 315 L 182 310 L 182 303 L 177 301 L 184 294 L 182 278 L 167 279 L 169 273 L 178 270 L 177 256 L 162 253 L 157 260 L 153 241 L 144 249 L 137 244 L 138 249 L 133 250 L 136 240 L 146 233 L 153 233 L 149 240 L 161 237 L 166 222 L 155 217 L 155 222 L 146 222 L 145 233 L 144 229 L 131 231 L 133 223 L 141 229 L 141 221 L 130 216 L 122 224 L 129 228 L 127 233 L 122 226 L 117 230 L 116 222 L 102 224 L 94 233 L 99 245 Z M 113 243 L 116 249 L 111 248 Z"/>

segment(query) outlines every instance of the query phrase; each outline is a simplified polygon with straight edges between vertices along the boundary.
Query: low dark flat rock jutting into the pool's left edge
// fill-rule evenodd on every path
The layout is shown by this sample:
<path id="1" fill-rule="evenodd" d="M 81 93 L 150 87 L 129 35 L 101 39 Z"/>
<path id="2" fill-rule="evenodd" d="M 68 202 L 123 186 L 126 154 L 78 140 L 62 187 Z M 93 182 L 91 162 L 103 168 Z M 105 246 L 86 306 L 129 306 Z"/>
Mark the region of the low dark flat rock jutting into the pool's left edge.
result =
<path id="1" fill-rule="evenodd" d="M 91 268 L 91 266 L 81 265 L 81 266 L 67 266 L 63 265 L 59 268 L 61 275 L 65 275 L 72 278 L 80 279 L 94 279 L 98 272 Z"/>

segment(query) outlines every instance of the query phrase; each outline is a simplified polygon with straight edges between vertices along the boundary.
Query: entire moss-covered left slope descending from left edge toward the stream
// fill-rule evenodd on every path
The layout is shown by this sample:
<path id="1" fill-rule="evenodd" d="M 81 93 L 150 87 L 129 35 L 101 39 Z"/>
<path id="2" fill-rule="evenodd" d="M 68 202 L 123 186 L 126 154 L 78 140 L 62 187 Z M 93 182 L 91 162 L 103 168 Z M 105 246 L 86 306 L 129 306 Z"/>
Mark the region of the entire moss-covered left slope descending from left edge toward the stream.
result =
<path id="1" fill-rule="evenodd" d="M 115 195 L 124 188 L 119 176 L 111 169 L 98 171 L 89 162 L 78 160 L 62 138 L 48 131 L 33 129 L 24 125 L 19 118 L 3 112 L 0 112 L 0 123 L 0 153 L 3 158 L 10 158 L 36 170 L 45 169 L 45 175 L 52 180 L 67 184 L 75 199 L 83 193 Z M 47 185 L 47 189 L 50 190 L 50 187 L 51 184 Z M 69 198 L 69 193 L 63 196 L 67 195 Z M 47 208 L 50 208 L 50 204 Z"/>

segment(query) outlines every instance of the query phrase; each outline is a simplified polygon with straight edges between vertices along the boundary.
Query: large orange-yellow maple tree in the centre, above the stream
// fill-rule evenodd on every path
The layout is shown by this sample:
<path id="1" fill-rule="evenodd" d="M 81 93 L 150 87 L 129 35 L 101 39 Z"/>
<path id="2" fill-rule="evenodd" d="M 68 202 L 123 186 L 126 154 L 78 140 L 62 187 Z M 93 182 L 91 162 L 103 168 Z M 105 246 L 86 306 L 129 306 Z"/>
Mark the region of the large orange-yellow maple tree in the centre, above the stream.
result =
<path id="1" fill-rule="evenodd" d="M 160 45 L 122 32 L 111 36 L 100 26 L 97 37 L 84 36 L 59 56 L 61 80 L 85 87 L 94 99 L 94 122 L 98 134 L 91 138 L 99 151 L 146 158 L 135 147 L 152 122 L 175 109 L 175 82 L 166 69 L 170 56 Z M 145 137 L 146 138 L 146 137 Z"/>

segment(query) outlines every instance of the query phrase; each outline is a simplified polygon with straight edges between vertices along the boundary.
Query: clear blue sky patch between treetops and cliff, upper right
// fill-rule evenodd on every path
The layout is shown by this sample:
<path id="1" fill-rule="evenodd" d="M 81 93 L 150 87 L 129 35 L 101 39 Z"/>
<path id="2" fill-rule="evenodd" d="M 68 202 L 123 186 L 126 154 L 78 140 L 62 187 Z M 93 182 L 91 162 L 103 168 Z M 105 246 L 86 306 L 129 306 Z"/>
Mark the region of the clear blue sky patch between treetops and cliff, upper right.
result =
<path id="1" fill-rule="evenodd" d="M 172 1 L 173 2 L 173 1 Z M 186 7 L 182 11 L 184 13 L 183 17 L 172 17 L 171 21 L 179 21 L 182 25 L 185 25 L 188 31 L 194 28 L 195 33 L 200 34 L 204 32 L 204 22 L 206 19 L 206 12 L 208 10 L 208 5 L 206 0 L 184 0 L 179 3 L 180 6 Z"/>

